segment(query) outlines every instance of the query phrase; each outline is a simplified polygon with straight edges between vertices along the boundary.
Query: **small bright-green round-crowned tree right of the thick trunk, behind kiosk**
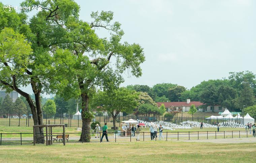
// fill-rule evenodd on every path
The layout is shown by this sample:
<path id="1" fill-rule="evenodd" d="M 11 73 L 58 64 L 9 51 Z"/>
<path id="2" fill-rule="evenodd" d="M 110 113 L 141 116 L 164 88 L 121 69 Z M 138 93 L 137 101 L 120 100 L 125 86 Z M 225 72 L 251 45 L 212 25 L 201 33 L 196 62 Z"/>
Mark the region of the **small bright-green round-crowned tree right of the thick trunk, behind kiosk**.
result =
<path id="1" fill-rule="evenodd" d="M 138 106 L 138 93 L 126 88 L 115 89 L 111 92 L 99 91 L 94 99 L 99 110 L 107 111 L 113 118 L 116 129 L 116 118 L 120 112 L 131 113 Z"/>

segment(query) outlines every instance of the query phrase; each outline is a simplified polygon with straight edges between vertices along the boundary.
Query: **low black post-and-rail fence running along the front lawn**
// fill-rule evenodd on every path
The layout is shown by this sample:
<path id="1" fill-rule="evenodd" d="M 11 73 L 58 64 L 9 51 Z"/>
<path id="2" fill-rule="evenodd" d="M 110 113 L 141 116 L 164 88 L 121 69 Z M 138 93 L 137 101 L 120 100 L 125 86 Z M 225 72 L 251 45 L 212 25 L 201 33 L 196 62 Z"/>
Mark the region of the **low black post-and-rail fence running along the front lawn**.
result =
<path id="1" fill-rule="evenodd" d="M 127 137 L 122 137 L 121 134 L 129 134 Z M 133 137 L 131 136 L 132 133 L 130 132 L 108 132 L 108 140 L 111 140 L 112 142 L 117 142 L 117 141 L 137 141 L 135 138 L 137 137 L 136 135 Z M 159 132 L 157 132 L 159 134 Z M 1 139 L 0 139 L 0 146 L 2 145 L 32 145 L 33 144 L 33 139 L 30 137 L 30 140 L 23 138 L 22 134 L 33 134 L 33 133 L 0 133 L 1 134 Z M 10 137 L 7 139 L 4 138 L 4 135 L 13 135 L 13 134 L 18 134 L 20 137 L 16 137 L 15 140 L 11 140 Z M 53 133 L 53 134 L 63 134 L 63 133 Z M 69 133 L 66 132 L 65 134 L 81 134 L 80 133 Z M 91 132 L 90 134 L 95 134 L 95 132 Z M 94 142 L 101 142 L 100 138 L 102 136 L 102 132 L 99 133 L 100 137 L 96 139 L 91 139 L 91 141 Z M 136 133 L 137 134 L 137 133 Z M 120 135 L 120 136 L 118 136 Z M 57 136 L 57 135 L 52 135 L 52 136 Z M 171 131 L 171 132 L 162 132 L 163 140 L 192 140 L 192 139 L 219 139 L 219 138 L 241 138 L 241 137 L 253 137 L 251 134 L 248 134 L 248 131 Z M 255 137 L 255 135 L 254 135 Z M 105 138 L 105 137 L 104 137 Z M 78 139 L 73 139 L 68 142 L 78 142 Z M 150 132 L 140 132 L 140 139 L 141 141 L 148 141 L 152 140 Z M 105 141 L 105 140 L 104 140 Z M 158 141 L 156 137 L 154 136 L 154 141 Z M 25 142 L 25 143 L 24 143 Z M 58 143 L 58 142 L 56 142 Z M 83 143 L 83 141 L 81 142 Z M 51 143 L 52 144 L 52 143 Z"/>

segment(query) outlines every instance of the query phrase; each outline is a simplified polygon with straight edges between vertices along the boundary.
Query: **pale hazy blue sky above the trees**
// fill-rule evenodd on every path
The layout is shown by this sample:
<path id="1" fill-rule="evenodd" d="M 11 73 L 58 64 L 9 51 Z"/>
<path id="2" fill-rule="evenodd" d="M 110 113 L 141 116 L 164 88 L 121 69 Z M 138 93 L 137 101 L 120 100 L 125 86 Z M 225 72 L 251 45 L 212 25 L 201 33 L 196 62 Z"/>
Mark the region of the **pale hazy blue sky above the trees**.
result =
<path id="1" fill-rule="evenodd" d="M 0 0 L 18 6 L 22 0 Z M 75 0 L 80 19 L 113 11 L 122 41 L 139 43 L 142 76 L 124 74 L 121 86 L 174 83 L 191 87 L 229 72 L 256 73 L 256 1 L 253 0 Z M 97 31 L 100 37 L 106 34 Z M 31 88 L 24 88 L 32 93 Z"/>

